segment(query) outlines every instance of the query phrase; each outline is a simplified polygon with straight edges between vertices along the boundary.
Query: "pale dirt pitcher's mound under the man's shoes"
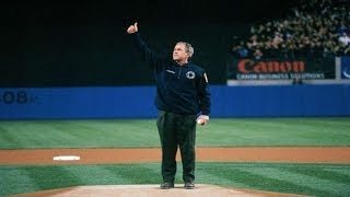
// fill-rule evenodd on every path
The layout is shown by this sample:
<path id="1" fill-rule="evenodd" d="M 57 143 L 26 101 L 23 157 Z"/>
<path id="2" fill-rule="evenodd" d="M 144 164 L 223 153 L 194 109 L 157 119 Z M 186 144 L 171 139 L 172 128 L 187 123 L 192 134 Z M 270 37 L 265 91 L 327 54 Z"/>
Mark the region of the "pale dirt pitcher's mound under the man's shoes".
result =
<path id="1" fill-rule="evenodd" d="M 25 197 L 63 197 L 63 196 L 122 196 L 122 197 L 225 197 L 225 196 L 299 196 L 241 188 L 226 188 L 214 185 L 197 184 L 195 189 L 184 189 L 175 185 L 172 189 L 160 189 L 159 185 L 103 185 L 78 186 L 38 193 L 22 194 Z"/>

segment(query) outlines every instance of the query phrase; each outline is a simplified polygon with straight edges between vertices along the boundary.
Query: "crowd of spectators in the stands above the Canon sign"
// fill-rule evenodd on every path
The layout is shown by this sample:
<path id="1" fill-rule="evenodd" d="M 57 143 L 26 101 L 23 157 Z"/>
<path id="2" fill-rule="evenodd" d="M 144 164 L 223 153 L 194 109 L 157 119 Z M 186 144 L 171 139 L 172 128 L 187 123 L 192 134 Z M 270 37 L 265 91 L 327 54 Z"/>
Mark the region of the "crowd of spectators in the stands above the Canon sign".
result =
<path id="1" fill-rule="evenodd" d="M 232 53 L 255 59 L 350 56 L 349 0 L 301 0 L 284 19 L 252 25 Z"/>

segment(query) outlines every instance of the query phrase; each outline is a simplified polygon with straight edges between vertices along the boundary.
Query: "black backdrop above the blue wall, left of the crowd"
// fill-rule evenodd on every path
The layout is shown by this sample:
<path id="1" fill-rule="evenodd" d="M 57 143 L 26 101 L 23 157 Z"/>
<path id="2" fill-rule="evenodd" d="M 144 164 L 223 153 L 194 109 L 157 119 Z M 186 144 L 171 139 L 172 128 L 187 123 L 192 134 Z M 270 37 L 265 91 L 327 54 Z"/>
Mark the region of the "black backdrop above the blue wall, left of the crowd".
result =
<path id="1" fill-rule="evenodd" d="M 0 86 L 153 84 L 126 34 L 139 22 L 147 43 L 171 55 L 176 42 L 195 47 L 192 61 L 211 84 L 226 82 L 235 35 L 278 19 L 298 0 L 8 1 L 2 2 Z"/>

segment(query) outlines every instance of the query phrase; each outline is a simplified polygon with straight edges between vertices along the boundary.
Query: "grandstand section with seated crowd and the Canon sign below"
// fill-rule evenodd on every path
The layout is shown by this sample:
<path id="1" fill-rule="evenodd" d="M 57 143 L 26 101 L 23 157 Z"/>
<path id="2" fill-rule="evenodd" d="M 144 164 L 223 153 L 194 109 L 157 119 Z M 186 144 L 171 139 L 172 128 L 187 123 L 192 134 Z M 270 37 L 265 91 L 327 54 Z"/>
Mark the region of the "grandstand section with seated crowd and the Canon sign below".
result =
<path id="1" fill-rule="evenodd" d="M 229 84 L 242 84 L 237 83 L 242 79 L 258 79 L 253 84 L 261 81 L 302 84 L 305 80 L 307 83 L 342 83 L 345 81 L 340 79 L 346 66 L 341 62 L 346 60 L 341 57 L 350 56 L 349 33 L 349 2 L 299 1 L 283 18 L 254 23 L 247 36 L 236 36 L 231 49 L 233 60 L 228 66 Z M 247 62 L 241 59 L 250 61 L 240 67 Z M 288 67 L 295 61 L 302 61 L 305 70 L 295 72 L 292 66 Z M 247 73 L 247 67 L 258 70 Z M 270 77 L 259 74 L 269 70 L 272 70 Z"/>

